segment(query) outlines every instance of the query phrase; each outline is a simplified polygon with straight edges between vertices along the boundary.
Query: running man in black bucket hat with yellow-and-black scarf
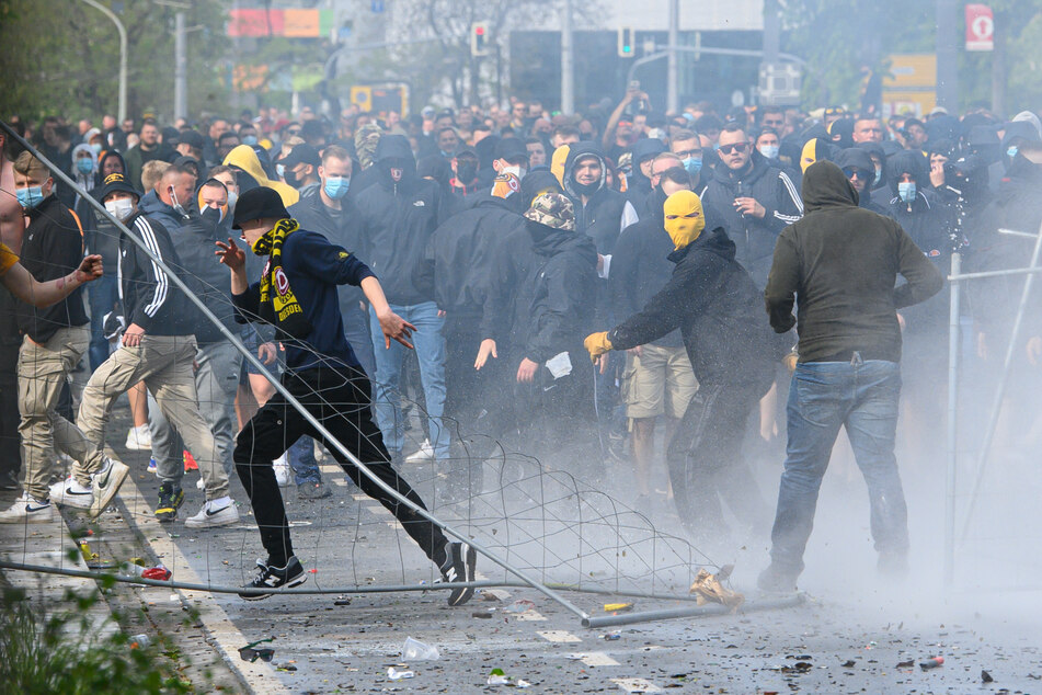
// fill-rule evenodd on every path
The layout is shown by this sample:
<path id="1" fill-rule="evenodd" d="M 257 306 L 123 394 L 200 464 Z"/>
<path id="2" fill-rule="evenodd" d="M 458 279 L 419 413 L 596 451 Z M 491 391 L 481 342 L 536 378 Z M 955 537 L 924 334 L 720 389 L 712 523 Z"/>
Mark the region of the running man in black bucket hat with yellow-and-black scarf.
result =
<path id="1" fill-rule="evenodd" d="M 403 136 L 386 136 L 377 150 L 377 166 L 385 168 L 389 182 L 402 187 L 402 194 L 409 186 L 410 205 L 415 201 L 426 203 L 432 198 L 424 194 L 434 184 L 402 175 L 404 152 L 411 157 Z M 371 186 L 363 202 L 375 189 L 385 186 Z M 412 348 L 410 339 L 419 343 L 414 326 L 391 308 L 380 281 L 365 263 L 321 235 L 301 229 L 272 191 L 253 189 L 243 193 L 236 207 L 233 227 L 242 230 L 253 253 L 268 257 L 267 272 L 250 283 L 243 251 L 231 239 L 217 244 L 220 261 L 231 273 L 232 299 L 240 320 L 273 324 L 286 345 L 287 369 L 282 377 L 286 389 L 387 487 L 425 509 L 420 495 L 394 470 L 380 431 L 373 422 L 369 380 L 344 338 L 336 286 L 351 284 L 365 293 L 379 327 L 375 338 L 381 352 L 389 352 L 392 342 L 403 349 Z M 401 231 L 400 227 L 396 226 L 394 231 Z M 400 364 L 402 355 L 396 356 Z M 378 375 L 381 367 L 378 363 Z M 427 403 L 430 407 L 430 397 Z M 265 589 L 296 586 L 307 581 L 307 572 L 294 556 L 289 523 L 272 470 L 272 459 L 304 435 L 320 436 L 280 395 L 273 396 L 239 433 L 236 467 L 267 551 L 267 558 L 257 562 L 257 576 L 244 586 L 259 591 L 241 593 L 243 600 L 266 599 L 271 594 L 264 593 Z M 449 542 L 438 526 L 400 504 L 335 447 L 332 454 L 355 485 L 401 523 L 446 581 L 473 581 L 478 558 L 469 544 Z M 461 605 L 471 596 L 473 589 L 455 589 L 448 603 Z"/>

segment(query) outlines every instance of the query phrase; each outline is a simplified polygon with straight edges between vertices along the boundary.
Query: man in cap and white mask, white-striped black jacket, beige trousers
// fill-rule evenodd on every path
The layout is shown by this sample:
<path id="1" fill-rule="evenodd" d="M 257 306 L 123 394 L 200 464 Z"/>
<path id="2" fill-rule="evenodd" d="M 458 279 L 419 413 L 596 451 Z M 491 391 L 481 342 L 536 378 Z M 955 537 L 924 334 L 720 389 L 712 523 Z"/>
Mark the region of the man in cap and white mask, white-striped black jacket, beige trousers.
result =
<path id="1" fill-rule="evenodd" d="M 184 264 L 170 232 L 161 223 L 146 217 L 138 209 L 139 194 L 121 174 L 112 174 L 105 180 L 99 200 L 129 233 L 182 281 L 191 280 L 188 273 L 180 270 Z M 192 272 L 198 270 L 193 267 Z M 198 514 L 185 520 L 185 525 L 205 528 L 233 524 L 239 520 L 239 512 L 229 495 L 228 475 L 217 458 L 217 442 L 199 412 L 195 386 L 195 331 L 199 329 L 199 314 L 152 258 L 122 230 L 118 275 L 126 322 L 122 346 L 94 371 L 87 383 L 77 426 L 91 442 L 101 446 L 116 399 L 131 385 L 145 381 L 167 420 L 195 456 L 205 483 L 206 502 Z M 180 457 L 178 465 L 182 465 Z M 95 495 L 91 510 L 101 513 L 127 472 L 123 464 L 118 464 L 122 468 L 115 462 L 112 466 L 115 475 L 108 475 L 108 468 L 99 471 L 96 467 L 76 465 L 70 479 L 57 483 L 65 486 L 59 491 L 73 495 L 93 480 Z M 51 488 L 54 494 L 55 488 Z M 161 500 L 163 505 L 160 509 L 173 508 L 175 513 L 184 502 L 184 494 L 169 497 Z"/>

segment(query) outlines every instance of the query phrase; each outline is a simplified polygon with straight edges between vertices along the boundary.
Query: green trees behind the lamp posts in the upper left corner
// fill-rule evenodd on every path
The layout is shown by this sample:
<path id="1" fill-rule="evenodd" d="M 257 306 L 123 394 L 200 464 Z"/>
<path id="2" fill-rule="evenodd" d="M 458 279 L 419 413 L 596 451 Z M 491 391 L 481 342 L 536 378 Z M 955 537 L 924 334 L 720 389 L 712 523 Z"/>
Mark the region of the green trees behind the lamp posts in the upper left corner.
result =
<path id="1" fill-rule="evenodd" d="M 173 113 L 176 10 L 151 0 L 100 0 L 127 31 L 127 115 Z M 182 0 L 187 33 L 188 112 L 228 104 L 226 2 Z M 0 0 L 4 115 L 98 121 L 115 113 L 119 38 L 115 24 L 79 0 Z"/>

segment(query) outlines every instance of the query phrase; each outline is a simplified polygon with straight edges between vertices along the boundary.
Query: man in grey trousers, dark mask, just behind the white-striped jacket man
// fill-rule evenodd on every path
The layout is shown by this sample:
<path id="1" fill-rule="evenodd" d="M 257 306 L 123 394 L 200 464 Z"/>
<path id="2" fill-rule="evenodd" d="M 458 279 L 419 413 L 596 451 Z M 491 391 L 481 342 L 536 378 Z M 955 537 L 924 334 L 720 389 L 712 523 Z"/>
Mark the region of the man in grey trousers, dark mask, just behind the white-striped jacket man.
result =
<path id="1" fill-rule="evenodd" d="M 176 227 L 168 227 L 178 258 L 178 261 L 169 263 L 179 275 L 186 278 L 192 294 L 203 300 L 221 324 L 230 332 L 238 333 L 228 273 L 219 263 L 214 263 L 211 258 L 214 243 L 228 236 L 229 215 L 228 189 L 222 182 L 208 179 L 199 186 L 187 218 L 176 220 L 180 223 Z M 164 220 L 162 217 L 159 219 Z M 198 394 L 199 412 L 214 435 L 216 460 L 224 472 L 224 478 L 218 477 L 217 480 L 217 485 L 220 485 L 221 480 L 226 481 L 231 474 L 231 451 L 237 430 L 234 399 L 238 379 L 231 379 L 229 375 L 239 374 L 242 355 L 216 324 L 196 312 L 194 306 L 190 310 L 195 316 L 194 332 L 197 344 L 195 389 Z M 184 477 L 185 443 L 170 425 L 161 409 L 151 413 L 149 431 L 156 475 L 160 479 L 156 517 L 161 523 L 169 523 L 176 519 L 178 509 L 184 500 L 181 480 Z M 188 451 L 192 452 L 191 448 Z M 205 478 L 202 482 L 208 498 L 220 497 L 219 490 L 206 489 Z"/>

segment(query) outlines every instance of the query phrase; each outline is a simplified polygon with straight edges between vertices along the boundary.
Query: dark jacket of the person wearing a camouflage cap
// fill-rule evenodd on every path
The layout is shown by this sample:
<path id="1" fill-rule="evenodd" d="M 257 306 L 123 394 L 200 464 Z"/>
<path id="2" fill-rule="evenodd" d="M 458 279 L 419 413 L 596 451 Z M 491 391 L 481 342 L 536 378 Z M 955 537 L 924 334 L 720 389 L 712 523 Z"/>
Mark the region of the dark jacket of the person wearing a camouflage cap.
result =
<path id="1" fill-rule="evenodd" d="M 524 356 L 542 364 L 568 351 L 572 364 L 585 360 L 583 339 L 593 329 L 597 292 L 597 249 L 574 231 L 541 227 L 533 235 L 541 263 L 529 278 L 530 303 Z"/>

